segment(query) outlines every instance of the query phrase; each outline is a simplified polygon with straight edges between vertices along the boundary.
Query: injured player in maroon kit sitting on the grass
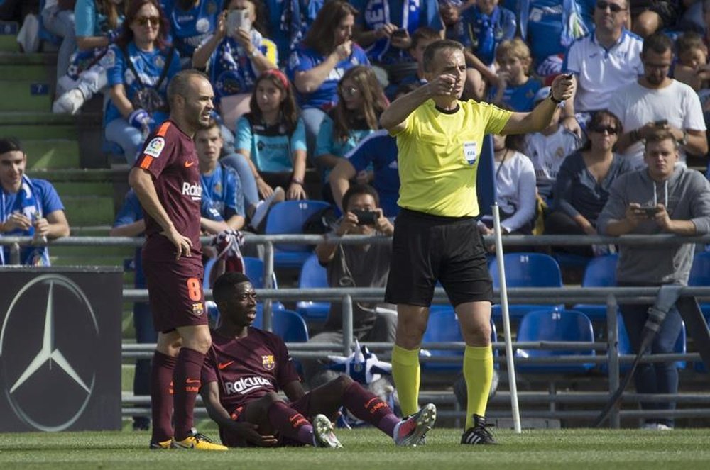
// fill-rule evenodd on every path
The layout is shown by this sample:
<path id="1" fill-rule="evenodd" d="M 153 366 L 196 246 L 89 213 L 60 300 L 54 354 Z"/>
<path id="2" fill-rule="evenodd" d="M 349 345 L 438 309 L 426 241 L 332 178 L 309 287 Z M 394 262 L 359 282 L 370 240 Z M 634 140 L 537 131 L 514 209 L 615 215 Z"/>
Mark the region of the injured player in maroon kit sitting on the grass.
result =
<path id="1" fill-rule="evenodd" d="M 212 293 L 221 315 L 202 367 L 200 393 L 210 418 L 219 425 L 223 444 L 341 447 L 327 418 L 341 406 L 378 427 L 397 445 L 420 443 L 434 425 L 436 408 L 431 403 L 400 420 L 349 376 L 305 393 L 283 340 L 251 327 L 256 291 L 249 278 L 238 272 L 222 274 Z M 279 389 L 288 403 L 278 397 Z"/>

